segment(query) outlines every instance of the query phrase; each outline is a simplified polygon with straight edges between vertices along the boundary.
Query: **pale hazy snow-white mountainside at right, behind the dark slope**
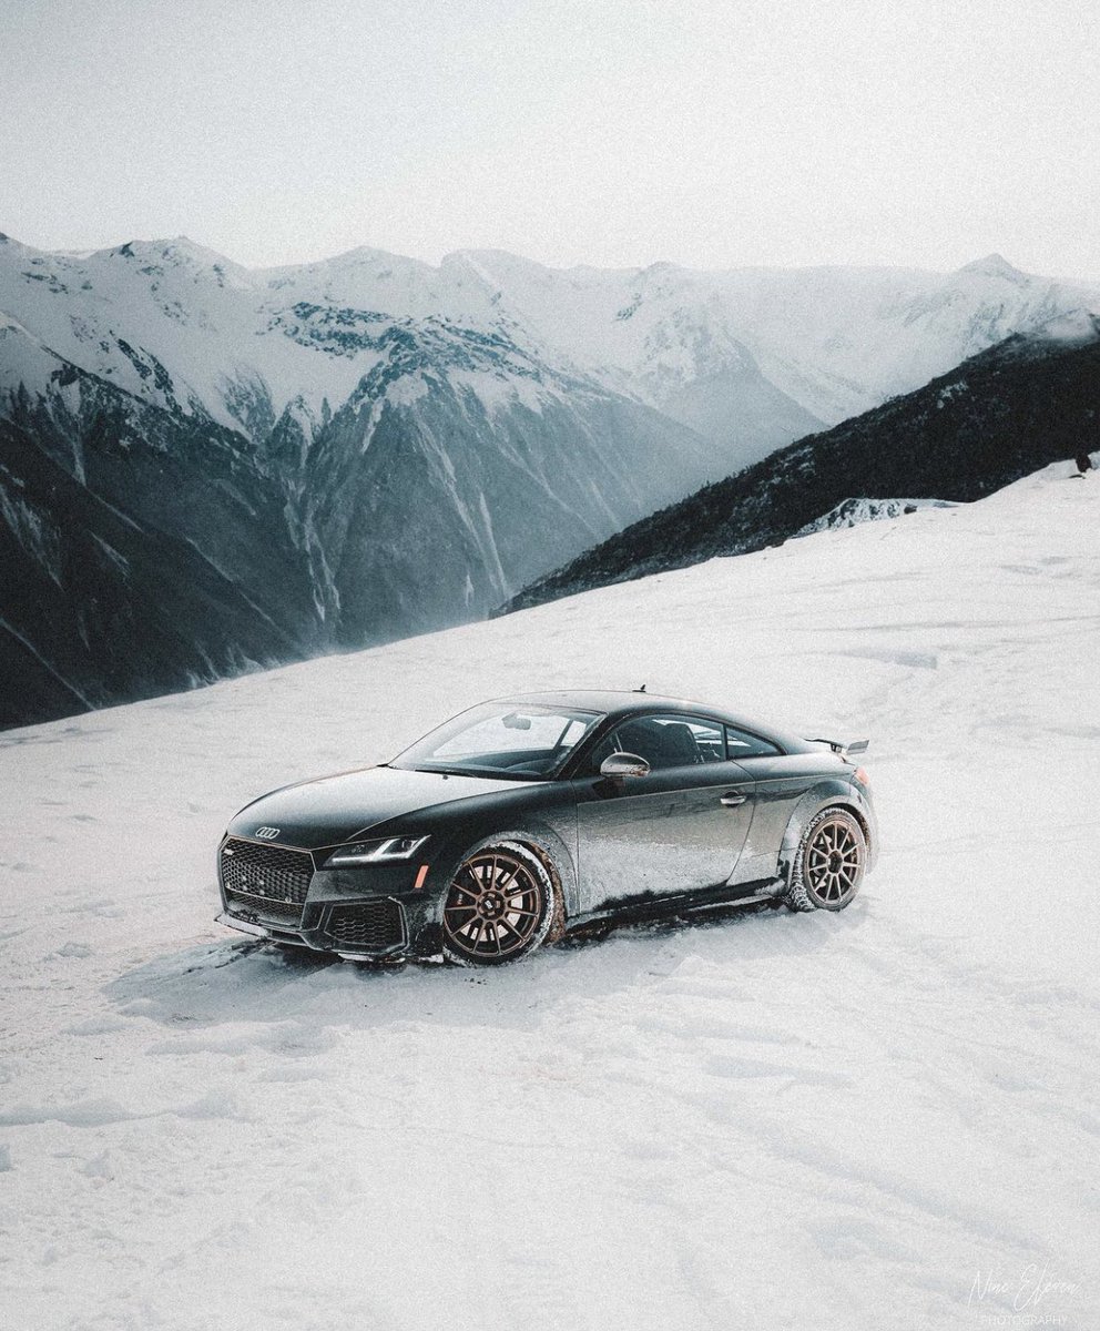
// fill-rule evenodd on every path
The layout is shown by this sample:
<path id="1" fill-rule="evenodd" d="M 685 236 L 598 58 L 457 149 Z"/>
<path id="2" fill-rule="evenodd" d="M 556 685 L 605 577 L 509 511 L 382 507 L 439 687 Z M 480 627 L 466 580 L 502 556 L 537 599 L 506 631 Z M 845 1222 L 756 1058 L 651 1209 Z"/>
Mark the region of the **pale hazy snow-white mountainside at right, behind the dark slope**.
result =
<path id="1" fill-rule="evenodd" d="M 689 419 L 700 399 L 713 399 L 725 383 L 726 429 L 736 427 L 738 394 L 749 383 L 774 395 L 761 421 L 778 414 L 782 394 L 835 425 L 1012 333 L 1079 307 L 1100 310 L 1100 287 L 1033 277 L 999 254 L 943 274 L 889 268 L 708 273 L 672 264 L 560 272 L 491 252 L 452 256 L 439 276 L 468 293 L 470 272 L 496 307 L 673 415 Z"/>

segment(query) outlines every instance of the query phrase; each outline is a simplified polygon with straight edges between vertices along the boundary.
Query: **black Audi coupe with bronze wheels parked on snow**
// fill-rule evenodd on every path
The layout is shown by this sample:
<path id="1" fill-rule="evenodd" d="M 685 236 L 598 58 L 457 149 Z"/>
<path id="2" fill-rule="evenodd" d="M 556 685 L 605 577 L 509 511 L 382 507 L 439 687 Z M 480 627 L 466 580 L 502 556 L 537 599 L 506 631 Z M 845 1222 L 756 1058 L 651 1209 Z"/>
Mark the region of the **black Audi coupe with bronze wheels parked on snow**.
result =
<path id="1" fill-rule="evenodd" d="M 642 691 L 484 703 L 246 805 L 218 918 L 344 958 L 497 965 L 621 920 L 841 910 L 878 851 L 862 748 Z"/>

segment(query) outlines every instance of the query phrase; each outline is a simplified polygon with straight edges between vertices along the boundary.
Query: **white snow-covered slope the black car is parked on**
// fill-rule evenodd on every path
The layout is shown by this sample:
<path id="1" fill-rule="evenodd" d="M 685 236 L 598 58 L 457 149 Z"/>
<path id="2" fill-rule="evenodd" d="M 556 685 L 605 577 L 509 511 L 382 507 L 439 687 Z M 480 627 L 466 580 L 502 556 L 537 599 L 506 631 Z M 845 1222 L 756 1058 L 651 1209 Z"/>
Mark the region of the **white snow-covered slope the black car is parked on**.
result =
<path id="1" fill-rule="evenodd" d="M 0 736 L 0 1322 L 1100 1326 L 1100 476 Z M 211 924 L 251 795 L 519 687 L 869 735 L 841 916 L 497 973 Z"/>

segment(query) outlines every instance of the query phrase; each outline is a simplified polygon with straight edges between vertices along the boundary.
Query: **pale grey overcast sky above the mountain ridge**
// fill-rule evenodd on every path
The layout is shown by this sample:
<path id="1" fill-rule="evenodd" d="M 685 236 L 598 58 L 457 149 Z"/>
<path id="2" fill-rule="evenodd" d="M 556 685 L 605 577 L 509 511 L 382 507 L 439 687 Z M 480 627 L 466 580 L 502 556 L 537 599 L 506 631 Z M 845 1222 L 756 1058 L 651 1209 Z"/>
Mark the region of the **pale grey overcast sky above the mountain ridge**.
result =
<path id="1" fill-rule="evenodd" d="M 0 0 L 0 230 L 1100 280 L 1096 0 Z"/>

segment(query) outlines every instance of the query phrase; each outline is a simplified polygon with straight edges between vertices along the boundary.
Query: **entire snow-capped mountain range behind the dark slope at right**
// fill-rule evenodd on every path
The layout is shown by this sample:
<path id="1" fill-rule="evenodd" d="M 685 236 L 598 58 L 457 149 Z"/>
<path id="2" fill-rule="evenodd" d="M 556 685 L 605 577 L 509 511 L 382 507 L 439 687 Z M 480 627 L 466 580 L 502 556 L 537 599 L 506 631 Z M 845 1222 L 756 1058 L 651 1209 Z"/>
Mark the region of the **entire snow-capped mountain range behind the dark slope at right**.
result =
<path id="1" fill-rule="evenodd" d="M 185 240 L 3 237 L 0 724 L 479 618 L 1096 305 L 996 256 L 950 276 L 375 250 L 247 270 Z"/>

